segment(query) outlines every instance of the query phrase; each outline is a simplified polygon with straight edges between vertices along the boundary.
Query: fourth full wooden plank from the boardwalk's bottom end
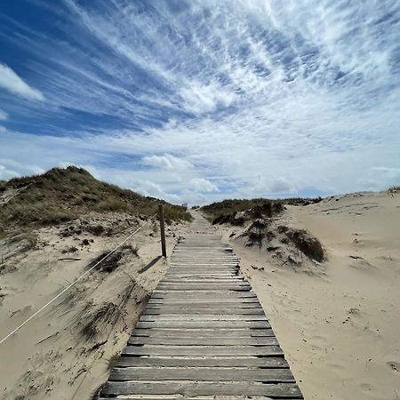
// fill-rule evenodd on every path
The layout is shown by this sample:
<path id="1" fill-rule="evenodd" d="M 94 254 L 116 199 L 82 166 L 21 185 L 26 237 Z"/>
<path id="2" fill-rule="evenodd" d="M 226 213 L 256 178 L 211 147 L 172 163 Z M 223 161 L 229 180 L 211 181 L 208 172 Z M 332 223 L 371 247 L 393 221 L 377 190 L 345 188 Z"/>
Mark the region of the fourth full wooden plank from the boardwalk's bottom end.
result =
<path id="1" fill-rule="evenodd" d="M 126 346 L 122 352 L 131 356 L 283 356 L 279 346 Z"/>

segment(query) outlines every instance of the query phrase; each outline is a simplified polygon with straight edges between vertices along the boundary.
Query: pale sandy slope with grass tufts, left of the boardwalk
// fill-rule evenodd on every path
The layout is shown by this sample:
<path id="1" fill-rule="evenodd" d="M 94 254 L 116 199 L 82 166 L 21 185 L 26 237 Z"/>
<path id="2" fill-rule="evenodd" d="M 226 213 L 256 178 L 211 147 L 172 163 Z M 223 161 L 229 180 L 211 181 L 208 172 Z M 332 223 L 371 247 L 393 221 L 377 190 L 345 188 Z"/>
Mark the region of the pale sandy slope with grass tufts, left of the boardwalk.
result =
<path id="1" fill-rule="evenodd" d="M 112 236 L 77 232 L 61 237 L 66 226 L 39 230 L 32 250 L 24 251 L 23 244 L 2 243 L 1 338 L 142 223 L 127 215 L 110 215 L 92 214 L 84 220 L 113 228 Z M 180 226 L 167 229 L 169 252 L 179 232 Z M 83 244 L 84 238 L 90 244 Z M 107 380 L 109 364 L 124 347 L 148 294 L 167 268 L 164 260 L 157 259 L 156 222 L 130 244 L 139 247 L 138 255 L 125 249 L 113 272 L 93 271 L 62 302 L 54 303 L 0 345 L 0 398 L 88 399 Z M 77 250 L 70 252 L 71 247 Z M 80 260 L 60 260 L 65 258 Z"/>

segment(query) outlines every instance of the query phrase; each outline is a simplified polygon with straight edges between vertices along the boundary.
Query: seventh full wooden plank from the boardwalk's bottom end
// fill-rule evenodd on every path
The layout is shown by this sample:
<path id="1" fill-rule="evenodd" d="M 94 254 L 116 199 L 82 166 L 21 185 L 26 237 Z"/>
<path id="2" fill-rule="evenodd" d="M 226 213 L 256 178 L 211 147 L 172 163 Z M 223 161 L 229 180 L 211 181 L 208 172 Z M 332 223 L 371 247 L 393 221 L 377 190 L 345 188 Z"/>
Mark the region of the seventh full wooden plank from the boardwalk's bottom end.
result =
<path id="1" fill-rule="evenodd" d="M 270 328 L 267 321 L 139 321 L 137 328 Z"/>

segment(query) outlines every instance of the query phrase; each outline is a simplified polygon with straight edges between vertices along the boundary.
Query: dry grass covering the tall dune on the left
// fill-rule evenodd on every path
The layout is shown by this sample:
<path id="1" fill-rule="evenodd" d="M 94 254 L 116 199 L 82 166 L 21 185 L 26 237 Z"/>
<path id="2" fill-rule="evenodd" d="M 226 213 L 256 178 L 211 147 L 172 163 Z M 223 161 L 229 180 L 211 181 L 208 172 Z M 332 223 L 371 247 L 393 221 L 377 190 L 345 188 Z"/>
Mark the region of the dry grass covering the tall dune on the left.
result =
<path id="1" fill-rule="evenodd" d="M 153 197 L 96 180 L 75 166 L 2 181 L 0 196 L 7 189 L 19 188 L 24 189 L 0 207 L 0 236 L 28 227 L 58 225 L 87 212 L 127 212 L 148 217 L 156 213 L 159 203 Z M 190 220 L 183 207 L 164 204 L 167 222 Z"/>

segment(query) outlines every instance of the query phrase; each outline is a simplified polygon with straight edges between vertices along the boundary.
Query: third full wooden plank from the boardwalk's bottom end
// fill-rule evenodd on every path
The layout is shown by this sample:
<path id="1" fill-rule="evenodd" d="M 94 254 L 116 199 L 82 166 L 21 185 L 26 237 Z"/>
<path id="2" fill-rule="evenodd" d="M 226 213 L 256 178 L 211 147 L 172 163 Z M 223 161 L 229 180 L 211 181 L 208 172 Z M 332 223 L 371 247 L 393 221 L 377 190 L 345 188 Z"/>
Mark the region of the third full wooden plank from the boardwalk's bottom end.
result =
<path id="1" fill-rule="evenodd" d="M 169 357 L 169 356 L 121 356 L 116 367 L 247 367 L 247 368 L 289 368 L 282 356 L 270 357 Z"/>

